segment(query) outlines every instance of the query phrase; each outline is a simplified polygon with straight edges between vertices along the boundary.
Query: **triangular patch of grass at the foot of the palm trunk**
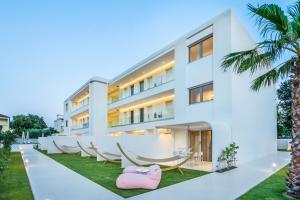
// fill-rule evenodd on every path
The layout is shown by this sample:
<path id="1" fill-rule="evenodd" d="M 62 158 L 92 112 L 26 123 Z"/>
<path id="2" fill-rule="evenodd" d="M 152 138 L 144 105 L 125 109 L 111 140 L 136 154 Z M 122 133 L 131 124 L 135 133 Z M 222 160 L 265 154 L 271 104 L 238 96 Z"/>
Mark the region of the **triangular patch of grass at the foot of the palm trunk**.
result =
<path id="1" fill-rule="evenodd" d="M 288 199 L 282 194 L 285 190 L 287 167 L 282 168 L 239 198 L 239 200 L 281 200 Z"/>

